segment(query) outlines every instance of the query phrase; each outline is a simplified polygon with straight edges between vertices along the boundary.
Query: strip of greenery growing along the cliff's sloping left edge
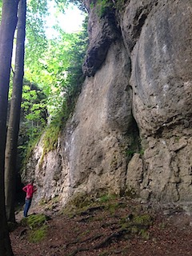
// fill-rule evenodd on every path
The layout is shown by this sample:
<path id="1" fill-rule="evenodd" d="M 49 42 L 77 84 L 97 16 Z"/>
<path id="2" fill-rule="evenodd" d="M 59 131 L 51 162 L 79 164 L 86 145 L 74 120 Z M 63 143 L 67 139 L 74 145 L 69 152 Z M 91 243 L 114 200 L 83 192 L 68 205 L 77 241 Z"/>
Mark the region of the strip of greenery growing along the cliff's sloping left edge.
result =
<path id="1" fill-rule="evenodd" d="M 82 62 L 86 54 L 86 47 L 88 45 L 88 34 L 87 34 L 87 18 L 84 22 L 83 30 L 78 33 L 78 41 L 74 44 L 73 50 L 70 54 L 72 56 L 70 61 L 70 66 L 66 70 L 67 78 L 65 82 L 65 96 L 63 98 L 62 107 L 60 110 L 57 110 L 54 113 L 54 117 L 50 118 L 50 124 L 46 128 L 42 129 L 41 134 L 37 136 L 37 140 L 33 138 L 31 142 L 27 142 L 27 152 L 22 156 L 23 166 L 25 168 L 26 163 L 28 162 L 31 154 L 33 153 L 34 146 L 37 145 L 39 141 L 39 135 L 43 134 L 43 153 L 40 161 L 40 167 L 44 156 L 50 151 L 55 150 L 58 146 L 58 137 L 62 131 L 62 128 L 65 127 L 67 120 L 70 118 L 70 115 L 74 111 L 75 104 L 78 99 L 78 95 L 82 89 L 82 83 L 85 80 L 85 76 L 82 74 Z M 35 137 L 36 138 L 36 137 Z"/>

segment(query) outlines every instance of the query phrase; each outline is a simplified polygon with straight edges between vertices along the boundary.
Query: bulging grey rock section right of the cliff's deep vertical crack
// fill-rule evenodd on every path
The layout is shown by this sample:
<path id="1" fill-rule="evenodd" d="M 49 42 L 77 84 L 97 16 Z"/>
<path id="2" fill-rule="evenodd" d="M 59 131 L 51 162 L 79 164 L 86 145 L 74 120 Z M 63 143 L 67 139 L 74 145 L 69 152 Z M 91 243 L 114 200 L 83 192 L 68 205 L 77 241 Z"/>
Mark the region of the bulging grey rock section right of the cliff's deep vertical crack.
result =
<path id="1" fill-rule="evenodd" d="M 190 1 L 151 3 L 130 2 L 122 19 L 132 66 L 134 118 L 145 149 L 140 190 L 146 199 L 190 201 L 192 5 Z M 132 25 L 144 14 L 134 41 Z"/>

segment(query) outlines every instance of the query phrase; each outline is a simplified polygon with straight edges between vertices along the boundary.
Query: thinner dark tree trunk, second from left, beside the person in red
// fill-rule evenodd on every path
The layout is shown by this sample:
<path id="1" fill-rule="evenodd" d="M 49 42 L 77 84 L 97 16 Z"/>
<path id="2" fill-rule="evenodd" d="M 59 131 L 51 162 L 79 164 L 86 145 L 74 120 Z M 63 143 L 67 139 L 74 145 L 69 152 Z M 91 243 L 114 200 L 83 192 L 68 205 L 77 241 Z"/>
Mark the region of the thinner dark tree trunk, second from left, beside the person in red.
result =
<path id="1" fill-rule="evenodd" d="M 22 102 L 22 81 L 24 75 L 25 35 L 26 0 L 20 0 L 18 3 L 18 33 L 16 42 L 13 93 L 10 102 L 10 119 L 6 136 L 5 191 L 6 217 L 9 222 L 15 222 L 14 199 L 16 185 L 18 130 Z"/>

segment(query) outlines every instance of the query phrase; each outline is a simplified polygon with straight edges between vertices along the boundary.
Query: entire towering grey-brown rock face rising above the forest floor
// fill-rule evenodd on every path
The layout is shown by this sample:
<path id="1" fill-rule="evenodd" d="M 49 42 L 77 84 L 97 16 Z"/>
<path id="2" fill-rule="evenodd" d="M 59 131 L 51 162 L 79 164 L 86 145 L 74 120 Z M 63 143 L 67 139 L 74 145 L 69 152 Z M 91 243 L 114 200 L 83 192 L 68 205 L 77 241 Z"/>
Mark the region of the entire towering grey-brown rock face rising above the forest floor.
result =
<path id="1" fill-rule="evenodd" d="M 116 2 L 98 17 L 86 1 L 86 81 L 58 149 L 41 168 L 41 143 L 30 159 L 37 202 L 78 192 L 191 202 L 192 2 Z"/>

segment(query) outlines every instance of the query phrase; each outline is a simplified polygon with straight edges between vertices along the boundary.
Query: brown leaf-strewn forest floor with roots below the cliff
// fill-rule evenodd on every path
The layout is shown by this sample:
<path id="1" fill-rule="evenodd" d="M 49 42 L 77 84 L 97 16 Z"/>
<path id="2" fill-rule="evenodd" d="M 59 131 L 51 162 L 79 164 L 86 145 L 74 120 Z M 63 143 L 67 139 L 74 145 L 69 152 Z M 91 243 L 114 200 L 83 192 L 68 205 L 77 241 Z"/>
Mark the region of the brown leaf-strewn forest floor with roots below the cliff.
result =
<path id="1" fill-rule="evenodd" d="M 29 226 L 10 233 L 14 256 L 186 256 L 192 255 L 192 216 L 180 209 L 154 210 L 126 198 L 84 208 L 70 216 L 31 208 L 30 216 L 49 215 L 46 237 L 30 242 Z"/>

